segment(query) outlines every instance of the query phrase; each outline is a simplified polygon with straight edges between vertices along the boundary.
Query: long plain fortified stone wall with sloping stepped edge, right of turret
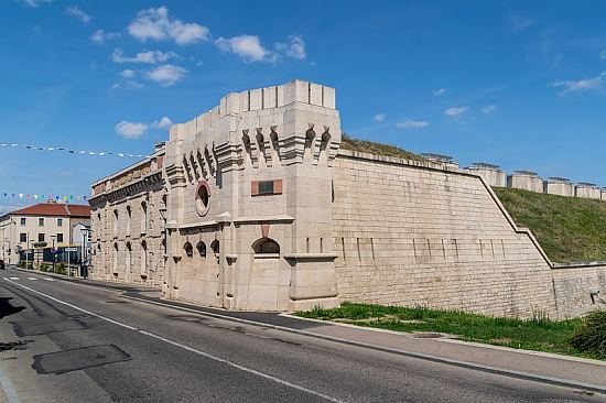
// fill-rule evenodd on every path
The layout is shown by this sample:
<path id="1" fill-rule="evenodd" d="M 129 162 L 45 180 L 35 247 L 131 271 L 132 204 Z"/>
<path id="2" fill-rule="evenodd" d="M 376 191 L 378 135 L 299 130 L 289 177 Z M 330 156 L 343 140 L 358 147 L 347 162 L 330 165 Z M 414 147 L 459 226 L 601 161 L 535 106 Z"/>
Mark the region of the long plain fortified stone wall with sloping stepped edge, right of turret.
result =
<path id="1" fill-rule="evenodd" d="M 603 266 L 553 270 L 478 176 L 342 150 L 334 188 L 340 301 L 561 318 L 606 286 Z"/>

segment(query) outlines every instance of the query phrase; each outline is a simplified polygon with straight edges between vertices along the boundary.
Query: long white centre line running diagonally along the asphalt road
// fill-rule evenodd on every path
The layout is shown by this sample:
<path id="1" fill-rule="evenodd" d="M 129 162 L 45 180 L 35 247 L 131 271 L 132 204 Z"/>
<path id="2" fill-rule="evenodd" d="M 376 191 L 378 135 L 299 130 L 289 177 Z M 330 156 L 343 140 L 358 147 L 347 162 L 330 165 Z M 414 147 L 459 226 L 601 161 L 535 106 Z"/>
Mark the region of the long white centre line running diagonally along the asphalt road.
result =
<path id="1" fill-rule="evenodd" d="M 11 279 L 12 279 L 12 277 L 11 277 Z M 4 277 L 4 280 L 8 281 L 9 283 L 12 283 L 12 284 L 19 286 L 19 287 L 22 287 L 22 288 L 25 288 L 25 290 L 28 290 L 28 291 L 31 291 L 32 293 L 42 295 L 42 296 L 44 296 L 44 297 L 46 297 L 46 298 L 48 298 L 48 299 L 51 299 L 51 301 L 54 301 L 54 302 L 57 302 L 57 303 L 59 303 L 59 304 L 66 305 L 66 306 L 68 306 L 68 307 L 71 307 L 71 308 L 73 308 L 73 309 L 83 312 L 83 313 L 85 313 L 85 314 L 87 314 L 87 315 L 90 315 L 90 316 L 95 316 L 95 317 L 97 317 L 97 318 L 99 318 L 99 319 L 109 322 L 110 324 L 113 324 L 113 325 L 118 325 L 118 326 L 125 327 L 125 328 L 127 328 L 127 329 L 129 329 L 129 330 L 133 330 L 133 331 L 140 333 L 141 335 L 145 335 L 145 336 L 149 336 L 149 337 L 153 337 L 153 338 L 155 338 L 155 339 L 158 339 L 158 340 L 161 340 L 161 341 L 164 341 L 164 342 L 166 342 L 166 344 L 169 344 L 169 345 L 172 345 L 172 346 L 182 348 L 182 349 L 184 349 L 184 350 L 186 350 L 186 351 L 194 352 L 194 353 L 196 353 L 196 355 L 198 355 L 198 356 L 202 356 L 202 357 L 205 357 L 205 358 L 208 358 L 208 359 L 212 359 L 212 360 L 215 360 L 215 361 L 225 363 L 226 366 L 229 366 L 229 367 L 231 367 L 231 368 L 236 368 L 236 369 L 238 369 L 238 370 L 240 370 L 240 371 L 248 372 L 248 373 L 252 373 L 252 374 L 255 374 L 255 375 L 258 375 L 258 377 L 264 378 L 264 379 L 267 379 L 267 380 L 277 382 L 277 383 L 279 383 L 279 384 L 281 384 L 281 385 L 289 386 L 289 388 L 292 388 L 292 389 L 296 389 L 296 390 L 299 390 L 299 391 L 301 391 L 301 392 L 305 392 L 305 393 L 312 394 L 312 395 L 314 395 L 314 396 L 324 399 L 324 400 L 326 400 L 326 401 L 328 401 L 328 402 L 335 402 L 335 403 L 342 403 L 342 402 L 343 402 L 342 400 L 338 400 L 338 399 L 335 399 L 335 397 L 331 397 L 331 396 L 328 396 L 328 395 L 326 395 L 326 394 L 324 394 L 324 393 L 322 393 L 322 392 L 316 392 L 316 391 L 311 390 L 311 389 L 307 389 L 307 388 L 305 388 L 305 386 L 301 386 L 301 385 L 299 385 L 299 384 L 296 384 L 296 383 L 292 383 L 292 382 L 285 381 L 285 380 L 283 380 L 283 379 L 280 379 L 280 378 L 275 378 L 275 377 L 270 375 L 270 374 L 268 374 L 268 373 L 257 371 L 257 370 L 255 370 L 255 369 L 252 369 L 252 368 L 248 368 L 248 367 L 240 366 L 240 364 L 238 364 L 238 363 L 236 363 L 236 362 L 226 360 L 226 359 L 220 358 L 220 357 L 217 357 L 217 356 L 213 356 L 213 355 L 210 355 L 210 353 L 208 353 L 208 352 L 204 352 L 204 351 L 201 351 L 201 350 L 196 350 L 196 349 L 193 348 L 193 347 L 188 347 L 188 346 L 182 345 L 182 344 L 180 344 L 180 342 L 177 342 L 177 341 L 173 341 L 173 340 L 167 339 L 167 338 L 164 338 L 164 337 L 162 337 L 162 336 L 159 336 L 159 335 L 155 335 L 155 334 L 145 331 L 145 330 L 138 329 L 138 328 L 136 328 L 136 327 L 133 327 L 133 326 L 123 324 L 123 323 L 118 322 L 118 320 L 110 319 L 110 318 L 108 318 L 108 317 L 106 317 L 106 316 L 96 314 L 96 313 L 94 313 L 94 312 L 86 311 L 86 309 L 80 308 L 80 307 L 78 307 L 78 306 L 76 306 L 76 305 L 69 304 L 69 303 L 67 303 L 67 302 L 65 302 L 65 301 L 61 301 L 61 299 L 58 299 L 58 298 L 55 298 L 55 297 L 53 297 L 53 296 L 51 296 L 51 295 L 48 295 L 48 294 L 44 294 L 44 293 L 42 293 L 42 292 L 40 292 L 40 291 L 37 291 L 37 290 L 30 288 L 30 287 L 28 287 L 28 286 L 25 286 L 25 285 L 23 285 L 23 284 L 15 283 L 15 282 L 13 282 L 13 281 L 11 281 L 11 280 L 8 280 L 7 277 Z"/>

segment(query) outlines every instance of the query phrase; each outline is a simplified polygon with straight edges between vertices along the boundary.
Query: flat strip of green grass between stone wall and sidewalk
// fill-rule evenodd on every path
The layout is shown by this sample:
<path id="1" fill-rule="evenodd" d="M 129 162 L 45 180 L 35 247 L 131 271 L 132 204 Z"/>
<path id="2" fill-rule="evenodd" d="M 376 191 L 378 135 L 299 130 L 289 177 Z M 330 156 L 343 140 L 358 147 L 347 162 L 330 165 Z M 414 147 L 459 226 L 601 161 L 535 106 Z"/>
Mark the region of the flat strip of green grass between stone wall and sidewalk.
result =
<path id="1" fill-rule="evenodd" d="M 571 339 L 583 323 L 583 319 L 578 318 L 555 322 L 538 316 L 532 320 L 521 320 L 455 311 L 349 302 L 344 302 L 338 308 L 315 308 L 309 312 L 297 312 L 295 315 L 397 331 L 445 333 L 462 340 L 527 350 L 596 359 L 606 358 L 592 352 L 582 352 L 571 345 Z"/>

